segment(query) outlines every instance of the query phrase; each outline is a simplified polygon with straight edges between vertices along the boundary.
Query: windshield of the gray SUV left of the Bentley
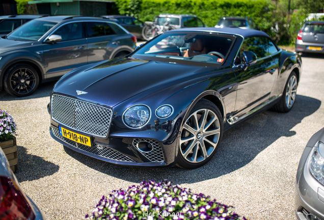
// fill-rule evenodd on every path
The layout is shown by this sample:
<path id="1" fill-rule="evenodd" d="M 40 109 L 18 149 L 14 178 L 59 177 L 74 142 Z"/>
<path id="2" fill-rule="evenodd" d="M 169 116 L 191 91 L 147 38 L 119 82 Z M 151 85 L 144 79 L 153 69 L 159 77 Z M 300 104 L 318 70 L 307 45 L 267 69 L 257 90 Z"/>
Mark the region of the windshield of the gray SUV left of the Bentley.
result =
<path id="1" fill-rule="evenodd" d="M 57 23 L 31 20 L 8 35 L 8 39 L 18 41 L 37 41 L 55 24 Z"/>

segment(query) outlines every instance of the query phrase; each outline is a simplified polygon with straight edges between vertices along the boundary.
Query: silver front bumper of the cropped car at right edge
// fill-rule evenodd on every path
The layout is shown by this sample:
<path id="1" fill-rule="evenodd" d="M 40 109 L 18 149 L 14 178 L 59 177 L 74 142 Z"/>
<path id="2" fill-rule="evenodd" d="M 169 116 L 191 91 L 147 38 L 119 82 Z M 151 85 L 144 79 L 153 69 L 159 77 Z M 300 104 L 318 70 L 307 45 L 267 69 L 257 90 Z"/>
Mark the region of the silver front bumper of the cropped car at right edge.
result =
<path id="1" fill-rule="evenodd" d="M 324 220 L 324 186 L 309 171 L 312 151 L 313 149 L 309 151 L 306 161 L 301 159 L 300 163 L 305 165 L 300 177 L 297 176 L 295 185 L 295 214 L 299 220 Z"/>

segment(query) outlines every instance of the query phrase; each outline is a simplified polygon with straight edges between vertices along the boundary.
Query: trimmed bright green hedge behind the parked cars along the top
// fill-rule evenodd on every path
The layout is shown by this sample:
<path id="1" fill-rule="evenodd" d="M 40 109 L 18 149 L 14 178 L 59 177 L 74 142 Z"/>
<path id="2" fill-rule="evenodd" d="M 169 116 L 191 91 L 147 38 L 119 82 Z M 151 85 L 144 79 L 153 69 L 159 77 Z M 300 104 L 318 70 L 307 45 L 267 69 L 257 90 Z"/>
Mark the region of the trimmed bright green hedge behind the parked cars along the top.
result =
<path id="1" fill-rule="evenodd" d="M 138 17 L 142 20 L 153 20 L 161 13 L 195 14 L 207 26 L 216 25 L 223 16 L 249 16 L 262 23 L 263 15 L 269 13 L 268 0 L 117 0 L 119 12 L 127 14 L 131 2 L 140 4 Z"/>

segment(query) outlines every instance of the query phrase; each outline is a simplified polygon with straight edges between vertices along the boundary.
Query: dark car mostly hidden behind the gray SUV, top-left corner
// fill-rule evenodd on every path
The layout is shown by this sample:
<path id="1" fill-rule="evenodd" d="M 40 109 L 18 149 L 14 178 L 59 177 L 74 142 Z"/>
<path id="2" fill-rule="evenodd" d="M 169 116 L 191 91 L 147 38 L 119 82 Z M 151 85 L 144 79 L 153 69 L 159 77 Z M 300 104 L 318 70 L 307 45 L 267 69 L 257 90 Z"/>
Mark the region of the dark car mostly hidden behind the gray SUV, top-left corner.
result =
<path id="1" fill-rule="evenodd" d="M 7 35 L 18 26 L 26 23 L 27 21 L 33 20 L 35 18 L 44 17 L 47 15 L 4 15 L 0 16 L 0 36 Z"/>

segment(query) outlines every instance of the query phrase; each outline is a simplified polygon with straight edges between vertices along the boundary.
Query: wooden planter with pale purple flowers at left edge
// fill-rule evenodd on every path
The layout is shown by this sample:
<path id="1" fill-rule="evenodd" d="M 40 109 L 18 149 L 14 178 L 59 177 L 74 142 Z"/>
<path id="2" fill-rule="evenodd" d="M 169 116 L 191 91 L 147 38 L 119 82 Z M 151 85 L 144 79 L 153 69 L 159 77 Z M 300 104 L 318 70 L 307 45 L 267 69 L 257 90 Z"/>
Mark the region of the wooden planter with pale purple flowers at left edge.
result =
<path id="1" fill-rule="evenodd" d="M 0 147 L 6 154 L 10 168 L 15 172 L 17 163 L 16 123 L 7 111 L 0 109 Z"/>

